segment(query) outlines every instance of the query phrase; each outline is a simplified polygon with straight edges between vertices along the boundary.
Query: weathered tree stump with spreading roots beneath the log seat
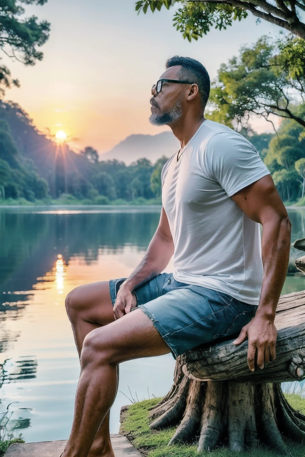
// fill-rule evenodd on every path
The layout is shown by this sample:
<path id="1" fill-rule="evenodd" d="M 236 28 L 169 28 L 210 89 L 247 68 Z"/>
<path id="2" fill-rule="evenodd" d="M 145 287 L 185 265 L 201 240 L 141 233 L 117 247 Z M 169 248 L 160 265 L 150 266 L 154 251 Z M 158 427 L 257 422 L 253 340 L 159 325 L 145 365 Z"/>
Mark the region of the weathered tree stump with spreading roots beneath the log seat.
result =
<path id="1" fill-rule="evenodd" d="M 177 366 L 171 391 L 150 416 L 152 429 L 177 425 L 169 444 L 199 436 L 198 452 L 224 444 L 242 452 L 265 443 L 286 455 L 284 436 L 305 444 L 305 416 L 288 404 L 279 383 L 200 382 Z"/>

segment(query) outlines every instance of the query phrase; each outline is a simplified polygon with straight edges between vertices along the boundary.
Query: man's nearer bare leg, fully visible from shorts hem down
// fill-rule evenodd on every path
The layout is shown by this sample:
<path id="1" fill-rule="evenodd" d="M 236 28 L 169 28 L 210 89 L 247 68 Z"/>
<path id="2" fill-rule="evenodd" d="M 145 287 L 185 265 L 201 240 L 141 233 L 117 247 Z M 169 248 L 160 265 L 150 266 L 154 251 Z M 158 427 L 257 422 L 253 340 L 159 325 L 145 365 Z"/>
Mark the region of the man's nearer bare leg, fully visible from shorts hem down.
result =
<path id="1" fill-rule="evenodd" d="M 84 340 L 71 434 L 63 457 L 87 457 L 117 392 L 117 365 L 170 352 L 140 309 L 93 330 Z"/>

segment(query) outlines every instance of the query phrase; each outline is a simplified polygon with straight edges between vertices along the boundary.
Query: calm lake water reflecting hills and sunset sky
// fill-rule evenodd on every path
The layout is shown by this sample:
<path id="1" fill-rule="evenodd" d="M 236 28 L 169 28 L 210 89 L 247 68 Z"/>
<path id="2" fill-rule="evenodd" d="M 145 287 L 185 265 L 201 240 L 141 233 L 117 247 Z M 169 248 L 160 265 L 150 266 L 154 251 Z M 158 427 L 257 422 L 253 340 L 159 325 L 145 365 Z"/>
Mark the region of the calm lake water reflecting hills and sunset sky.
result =
<path id="1" fill-rule="evenodd" d="M 158 207 L 0 209 L 0 411 L 14 402 L 9 426 L 27 442 L 70 433 L 80 367 L 66 295 L 81 284 L 128 276 L 159 215 Z M 289 218 L 292 241 L 305 237 L 305 210 L 289 209 Z M 301 255 L 292 248 L 291 258 Z M 288 276 L 282 293 L 304 289 L 305 276 Z M 112 433 L 131 395 L 167 393 L 174 365 L 170 354 L 121 364 Z"/>

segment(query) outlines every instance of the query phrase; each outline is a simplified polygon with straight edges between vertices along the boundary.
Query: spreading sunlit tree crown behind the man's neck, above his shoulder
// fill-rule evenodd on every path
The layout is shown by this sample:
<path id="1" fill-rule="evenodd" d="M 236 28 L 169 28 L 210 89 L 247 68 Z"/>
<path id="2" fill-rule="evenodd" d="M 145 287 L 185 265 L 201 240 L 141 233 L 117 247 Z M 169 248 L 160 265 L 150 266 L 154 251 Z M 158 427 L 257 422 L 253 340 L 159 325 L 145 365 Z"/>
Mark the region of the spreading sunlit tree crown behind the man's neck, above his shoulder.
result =
<path id="1" fill-rule="evenodd" d="M 210 92 L 208 117 L 232 127 L 248 125 L 251 114 L 294 119 L 305 127 L 305 41 L 263 36 L 221 64 Z"/>

